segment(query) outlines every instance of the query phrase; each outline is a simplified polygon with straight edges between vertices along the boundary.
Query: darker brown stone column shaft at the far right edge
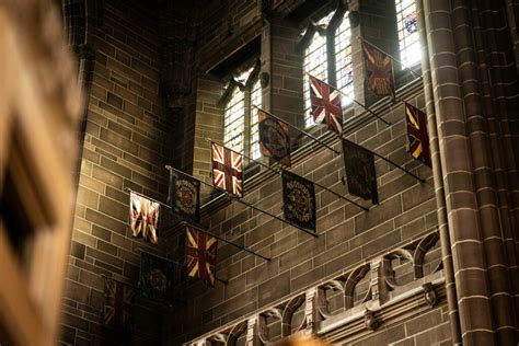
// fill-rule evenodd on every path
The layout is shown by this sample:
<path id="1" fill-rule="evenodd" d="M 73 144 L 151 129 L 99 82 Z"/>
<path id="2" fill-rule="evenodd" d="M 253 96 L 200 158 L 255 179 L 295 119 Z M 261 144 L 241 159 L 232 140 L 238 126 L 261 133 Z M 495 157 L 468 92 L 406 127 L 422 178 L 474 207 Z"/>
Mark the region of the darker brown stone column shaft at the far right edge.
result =
<path id="1" fill-rule="evenodd" d="M 493 157 L 492 154 L 492 147 L 496 146 L 495 148 L 498 148 L 498 151 L 501 151 L 499 149 L 503 147 L 496 141 L 495 136 L 488 134 L 488 129 L 495 127 L 493 124 L 497 125 L 495 124 L 496 113 L 499 112 L 499 107 L 497 109 L 494 109 L 494 107 L 485 109 L 485 89 L 488 91 L 488 96 L 491 96 L 491 91 L 488 90 L 488 82 L 485 81 L 485 71 L 483 69 L 478 70 L 480 66 L 486 64 L 485 55 L 487 51 L 485 50 L 496 49 L 497 47 L 496 45 L 492 45 L 493 48 L 482 46 L 483 37 L 481 31 L 485 28 L 481 27 L 481 23 L 478 23 L 480 9 L 474 8 L 474 4 L 466 0 L 455 1 L 455 3 L 458 5 L 453 9 L 452 26 L 458 64 L 460 66 L 460 83 L 464 102 L 469 145 L 472 152 L 471 159 L 474 168 L 475 198 L 478 206 L 482 241 L 485 247 L 487 275 L 491 284 L 488 289 L 495 318 L 494 325 L 499 345 L 516 345 L 514 309 L 510 309 L 514 301 L 511 299 L 510 280 L 507 270 L 507 252 L 505 251 L 503 239 L 503 235 L 508 239 L 510 238 L 510 224 L 508 221 L 510 218 L 508 209 L 499 212 L 499 198 L 498 191 L 496 189 L 496 175 L 503 175 L 501 155 L 496 153 Z M 472 12 L 471 4 L 475 12 Z M 492 14 L 485 14 L 485 16 L 488 15 Z M 493 26 L 493 23 L 488 24 L 487 27 Z M 489 33 L 486 35 L 492 36 Z M 480 46 L 480 49 L 477 49 L 476 45 Z M 480 50 L 480 54 L 477 50 Z M 478 56 L 480 58 L 477 58 Z M 480 76 L 482 76 L 481 81 Z M 498 91 L 494 90 L 494 93 Z M 495 103 L 492 97 L 488 97 L 487 101 L 488 104 Z M 499 214 L 504 216 L 501 221 L 499 221 Z M 515 262 L 514 246 L 509 250 L 512 251 L 510 260 Z"/>

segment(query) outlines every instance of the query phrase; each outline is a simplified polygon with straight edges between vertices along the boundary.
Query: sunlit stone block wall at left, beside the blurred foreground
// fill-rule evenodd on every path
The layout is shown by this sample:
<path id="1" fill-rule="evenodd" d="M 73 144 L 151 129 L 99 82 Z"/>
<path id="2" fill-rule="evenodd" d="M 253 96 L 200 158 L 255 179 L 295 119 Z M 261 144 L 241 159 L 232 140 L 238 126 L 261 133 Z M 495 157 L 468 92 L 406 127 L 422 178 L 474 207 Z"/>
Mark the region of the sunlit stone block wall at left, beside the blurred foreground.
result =
<path id="1" fill-rule="evenodd" d="M 61 344 L 111 344 L 102 326 L 104 281 L 137 285 L 139 251 L 164 253 L 132 239 L 125 188 L 165 199 L 172 122 L 159 94 L 159 27 L 151 9 L 107 1 L 94 35 L 93 81 L 73 220 Z M 137 302 L 135 342 L 158 341 L 161 319 Z M 129 337 L 129 336 L 128 336 Z M 113 341 L 112 341 L 113 342 Z"/>

